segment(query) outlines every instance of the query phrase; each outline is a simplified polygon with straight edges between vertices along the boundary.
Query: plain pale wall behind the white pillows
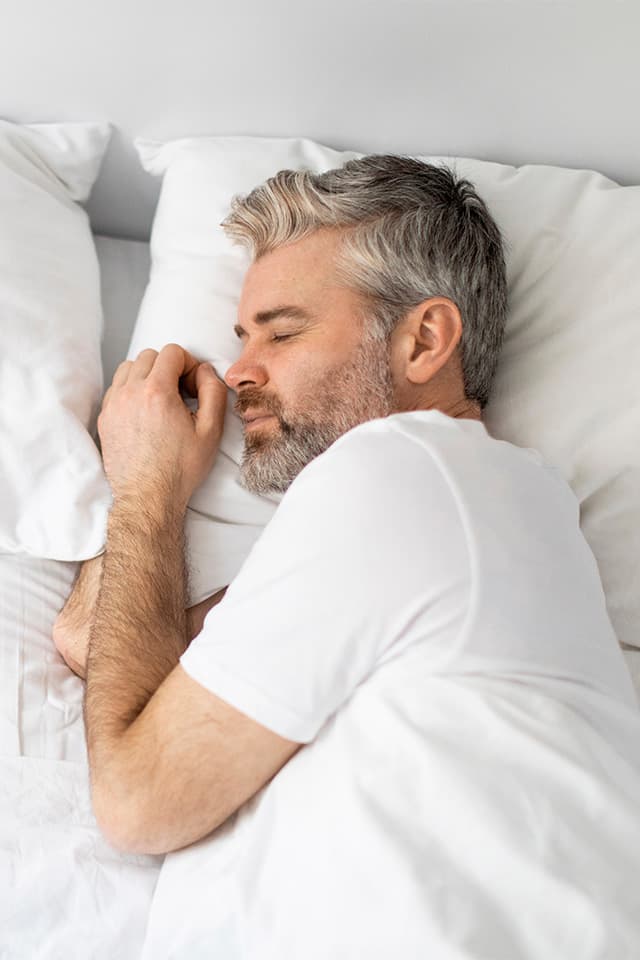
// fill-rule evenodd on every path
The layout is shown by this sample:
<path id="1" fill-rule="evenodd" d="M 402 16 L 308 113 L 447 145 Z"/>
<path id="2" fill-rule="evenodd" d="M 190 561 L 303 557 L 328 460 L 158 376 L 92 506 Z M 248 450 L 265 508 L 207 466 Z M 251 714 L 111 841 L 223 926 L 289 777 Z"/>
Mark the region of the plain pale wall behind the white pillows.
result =
<path id="1" fill-rule="evenodd" d="M 0 0 L 0 116 L 108 119 L 93 227 L 146 238 L 136 135 L 593 167 L 640 183 L 638 0 Z"/>

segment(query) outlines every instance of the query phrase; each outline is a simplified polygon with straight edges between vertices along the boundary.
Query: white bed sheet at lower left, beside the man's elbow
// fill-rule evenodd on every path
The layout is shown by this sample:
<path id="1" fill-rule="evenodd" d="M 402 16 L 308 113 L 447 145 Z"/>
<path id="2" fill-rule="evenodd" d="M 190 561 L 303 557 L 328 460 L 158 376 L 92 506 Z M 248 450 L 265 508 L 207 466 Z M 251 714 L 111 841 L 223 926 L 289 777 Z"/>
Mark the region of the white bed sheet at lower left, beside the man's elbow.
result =
<path id="1" fill-rule="evenodd" d="M 75 563 L 0 555 L 0 957 L 138 960 L 164 857 L 104 839 L 84 683 L 51 637 Z"/>

